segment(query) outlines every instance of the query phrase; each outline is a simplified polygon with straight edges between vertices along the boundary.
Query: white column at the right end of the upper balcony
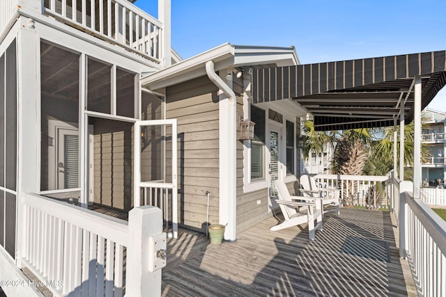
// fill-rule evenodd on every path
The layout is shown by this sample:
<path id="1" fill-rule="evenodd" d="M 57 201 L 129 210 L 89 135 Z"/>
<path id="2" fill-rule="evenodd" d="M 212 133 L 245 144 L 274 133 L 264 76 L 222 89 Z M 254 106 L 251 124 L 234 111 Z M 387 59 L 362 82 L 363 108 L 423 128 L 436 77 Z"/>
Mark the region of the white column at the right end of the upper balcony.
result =
<path id="1" fill-rule="evenodd" d="M 158 19 L 162 22 L 162 59 L 171 65 L 171 0 L 158 0 Z"/>

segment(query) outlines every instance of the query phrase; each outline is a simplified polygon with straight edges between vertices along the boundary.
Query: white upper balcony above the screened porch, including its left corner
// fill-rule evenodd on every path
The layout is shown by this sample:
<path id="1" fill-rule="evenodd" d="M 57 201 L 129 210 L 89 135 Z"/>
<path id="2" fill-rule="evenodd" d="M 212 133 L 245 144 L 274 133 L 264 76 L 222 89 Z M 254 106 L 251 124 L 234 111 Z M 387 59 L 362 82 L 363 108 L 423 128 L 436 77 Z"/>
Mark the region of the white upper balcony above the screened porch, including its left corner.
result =
<path id="1" fill-rule="evenodd" d="M 127 0 L 2 0 L 0 6 L 0 40 L 17 15 L 45 15 L 61 26 L 71 26 L 148 61 L 162 63 L 164 24 Z"/>

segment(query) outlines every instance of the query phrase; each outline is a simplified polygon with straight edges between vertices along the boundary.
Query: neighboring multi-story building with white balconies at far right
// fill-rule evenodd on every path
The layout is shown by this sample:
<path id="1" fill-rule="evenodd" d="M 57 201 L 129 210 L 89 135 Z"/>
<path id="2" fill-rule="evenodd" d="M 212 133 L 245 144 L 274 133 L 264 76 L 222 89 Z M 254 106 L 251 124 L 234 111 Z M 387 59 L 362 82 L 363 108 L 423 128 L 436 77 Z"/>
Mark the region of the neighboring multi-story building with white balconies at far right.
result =
<path id="1" fill-rule="evenodd" d="M 446 113 L 424 109 L 422 111 L 422 143 L 426 144 L 431 156 L 422 162 L 424 186 L 443 185 L 446 179 Z"/>

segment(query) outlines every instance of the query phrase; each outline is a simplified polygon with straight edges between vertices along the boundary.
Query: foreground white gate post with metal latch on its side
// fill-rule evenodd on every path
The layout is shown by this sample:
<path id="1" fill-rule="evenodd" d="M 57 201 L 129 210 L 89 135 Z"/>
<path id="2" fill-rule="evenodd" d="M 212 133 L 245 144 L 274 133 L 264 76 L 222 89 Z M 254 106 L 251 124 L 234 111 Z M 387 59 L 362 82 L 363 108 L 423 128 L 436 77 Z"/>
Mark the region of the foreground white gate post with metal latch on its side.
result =
<path id="1" fill-rule="evenodd" d="M 161 296 L 161 268 L 166 264 L 161 209 L 135 207 L 129 212 L 128 228 L 125 296 Z"/>

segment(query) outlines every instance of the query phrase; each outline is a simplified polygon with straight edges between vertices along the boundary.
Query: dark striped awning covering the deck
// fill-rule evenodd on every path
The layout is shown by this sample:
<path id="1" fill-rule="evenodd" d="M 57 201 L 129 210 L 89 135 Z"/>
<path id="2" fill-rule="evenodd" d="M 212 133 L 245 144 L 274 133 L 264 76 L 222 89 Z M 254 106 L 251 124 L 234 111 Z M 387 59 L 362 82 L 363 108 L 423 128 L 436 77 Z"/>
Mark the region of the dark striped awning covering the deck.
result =
<path id="1" fill-rule="evenodd" d="M 318 130 L 385 127 L 413 120 L 414 79 L 422 109 L 446 84 L 446 51 L 252 70 L 254 104 L 293 99 L 314 115 Z"/>

